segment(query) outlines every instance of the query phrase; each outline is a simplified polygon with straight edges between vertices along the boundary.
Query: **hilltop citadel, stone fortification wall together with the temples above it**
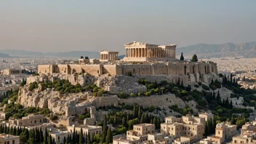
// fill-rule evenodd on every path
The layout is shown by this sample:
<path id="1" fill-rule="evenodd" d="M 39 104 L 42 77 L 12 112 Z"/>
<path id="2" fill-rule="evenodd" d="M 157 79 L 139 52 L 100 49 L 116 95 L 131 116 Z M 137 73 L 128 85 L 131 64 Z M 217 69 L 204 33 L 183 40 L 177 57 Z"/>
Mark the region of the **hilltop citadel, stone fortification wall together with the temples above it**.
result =
<path id="1" fill-rule="evenodd" d="M 217 64 L 212 62 L 188 62 L 175 58 L 176 44 L 156 45 L 141 42 L 124 44 L 126 57 L 117 60 L 118 52 L 100 51 L 100 61 L 96 59 L 79 59 L 79 65 L 39 65 L 39 73 L 90 73 L 99 76 L 111 75 L 189 75 L 217 74 Z M 111 63 L 108 63 L 111 62 Z M 135 63 L 137 62 L 137 63 Z"/>

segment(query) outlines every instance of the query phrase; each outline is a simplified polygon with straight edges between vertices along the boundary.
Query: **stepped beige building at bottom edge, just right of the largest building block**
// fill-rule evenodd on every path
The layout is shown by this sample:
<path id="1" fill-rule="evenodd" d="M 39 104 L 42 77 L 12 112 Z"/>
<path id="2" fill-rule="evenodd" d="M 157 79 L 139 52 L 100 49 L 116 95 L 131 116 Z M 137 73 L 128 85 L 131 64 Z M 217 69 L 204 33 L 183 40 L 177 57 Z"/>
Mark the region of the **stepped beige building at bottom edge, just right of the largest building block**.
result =
<path id="1" fill-rule="evenodd" d="M 207 137 L 207 139 L 220 144 L 225 140 L 230 140 L 234 135 L 236 135 L 236 125 L 220 123 L 216 125 L 215 136 Z"/>

